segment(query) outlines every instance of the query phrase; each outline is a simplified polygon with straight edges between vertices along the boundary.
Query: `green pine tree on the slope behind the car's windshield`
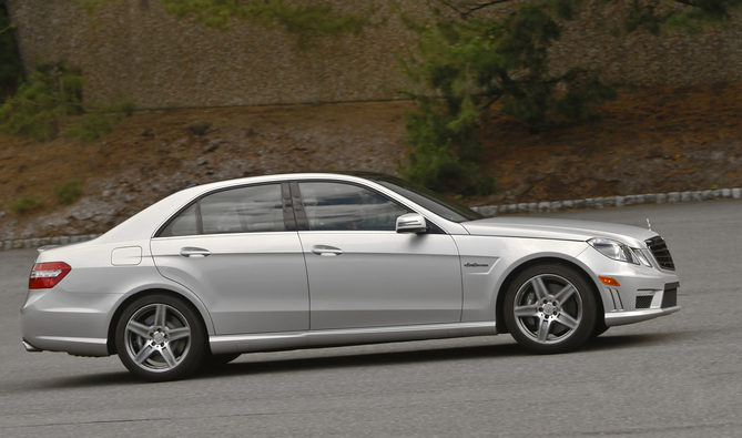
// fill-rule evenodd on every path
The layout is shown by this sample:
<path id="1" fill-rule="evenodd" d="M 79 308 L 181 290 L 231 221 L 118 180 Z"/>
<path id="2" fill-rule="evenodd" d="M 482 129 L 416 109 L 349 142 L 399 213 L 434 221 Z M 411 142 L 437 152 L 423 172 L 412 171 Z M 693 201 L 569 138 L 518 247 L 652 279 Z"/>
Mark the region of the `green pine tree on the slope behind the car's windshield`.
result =
<path id="1" fill-rule="evenodd" d="M 556 74 L 548 49 L 560 37 L 573 0 L 518 4 L 498 19 L 448 18 L 416 22 L 416 52 L 399 57 L 416 103 L 406 118 L 408 159 L 400 167 L 410 180 L 433 189 L 465 193 L 491 189 L 477 175 L 480 115 L 500 101 L 501 111 L 531 131 L 562 120 L 593 120 L 614 91 L 582 70 Z"/>

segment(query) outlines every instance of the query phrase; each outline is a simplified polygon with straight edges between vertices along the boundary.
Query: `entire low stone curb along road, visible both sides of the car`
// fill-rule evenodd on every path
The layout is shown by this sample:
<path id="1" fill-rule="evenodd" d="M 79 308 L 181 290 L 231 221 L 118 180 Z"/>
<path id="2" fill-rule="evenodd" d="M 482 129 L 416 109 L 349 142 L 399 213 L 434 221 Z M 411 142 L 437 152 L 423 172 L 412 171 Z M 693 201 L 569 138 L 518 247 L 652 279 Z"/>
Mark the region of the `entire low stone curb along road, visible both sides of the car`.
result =
<path id="1" fill-rule="evenodd" d="M 670 193 L 647 193 L 642 195 L 627 195 L 627 196 L 607 196 L 607 197 L 588 197 L 585 200 L 572 201 L 552 201 L 552 202 L 531 202 L 518 204 L 504 205 L 482 205 L 471 207 L 471 210 L 481 213 L 487 217 L 504 215 L 504 214 L 519 214 L 519 213 L 552 213 L 566 210 L 581 210 L 581 208 L 608 208 L 608 207 L 623 207 L 630 205 L 648 205 L 648 204 L 672 204 L 677 202 L 691 201 L 714 201 L 724 198 L 739 200 L 742 197 L 742 189 L 718 189 L 703 190 L 697 192 L 670 192 Z M 58 236 L 58 237 L 41 237 L 41 238 L 17 238 L 9 241 L 0 241 L 0 251 L 10 249 L 32 249 L 45 245 L 67 245 L 70 243 L 80 243 L 92 241 L 101 236 L 101 234 L 87 234 L 80 236 Z"/>

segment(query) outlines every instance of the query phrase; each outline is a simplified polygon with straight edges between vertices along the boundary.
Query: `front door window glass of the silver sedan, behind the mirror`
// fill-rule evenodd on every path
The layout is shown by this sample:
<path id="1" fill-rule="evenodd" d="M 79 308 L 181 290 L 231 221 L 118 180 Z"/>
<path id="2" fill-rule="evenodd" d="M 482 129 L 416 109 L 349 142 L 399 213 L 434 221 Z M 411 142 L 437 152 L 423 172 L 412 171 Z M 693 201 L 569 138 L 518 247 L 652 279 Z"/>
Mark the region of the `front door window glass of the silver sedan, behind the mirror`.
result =
<path id="1" fill-rule="evenodd" d="M 309 230 L 394 231 L 407 208 L 370 190 L 342 183 L 299 183 Z"/>

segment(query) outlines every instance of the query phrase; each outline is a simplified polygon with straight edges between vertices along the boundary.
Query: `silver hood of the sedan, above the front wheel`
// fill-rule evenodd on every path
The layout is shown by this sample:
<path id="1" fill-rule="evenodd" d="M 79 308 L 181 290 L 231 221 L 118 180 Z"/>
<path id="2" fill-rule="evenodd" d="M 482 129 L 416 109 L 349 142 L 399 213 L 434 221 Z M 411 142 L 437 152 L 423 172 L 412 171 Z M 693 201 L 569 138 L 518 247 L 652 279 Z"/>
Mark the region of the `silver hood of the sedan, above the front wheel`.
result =
<path id="1" fill-rule="evenodd" d="M 492 217 L 464 222 L 472 235 L 587 241 L 592 237 L 619 240 L 630 246 L 644 246 L 644 241 L 657 235 L 651 230 L 607 222 L 558 220 L 546 217 Z"/>

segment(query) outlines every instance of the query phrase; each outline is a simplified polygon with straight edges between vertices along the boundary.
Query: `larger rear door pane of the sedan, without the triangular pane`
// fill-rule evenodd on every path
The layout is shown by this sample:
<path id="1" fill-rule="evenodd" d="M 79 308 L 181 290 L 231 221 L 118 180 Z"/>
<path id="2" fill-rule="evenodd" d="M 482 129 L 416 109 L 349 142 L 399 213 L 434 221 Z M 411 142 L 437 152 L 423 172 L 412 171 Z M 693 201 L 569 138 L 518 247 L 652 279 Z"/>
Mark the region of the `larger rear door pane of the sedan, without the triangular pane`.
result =
<path id="1" fill-rule="evenodd" d="M 286 231 L 279 184 L 216 192 L 200 205 L 203 234 Z"/>

